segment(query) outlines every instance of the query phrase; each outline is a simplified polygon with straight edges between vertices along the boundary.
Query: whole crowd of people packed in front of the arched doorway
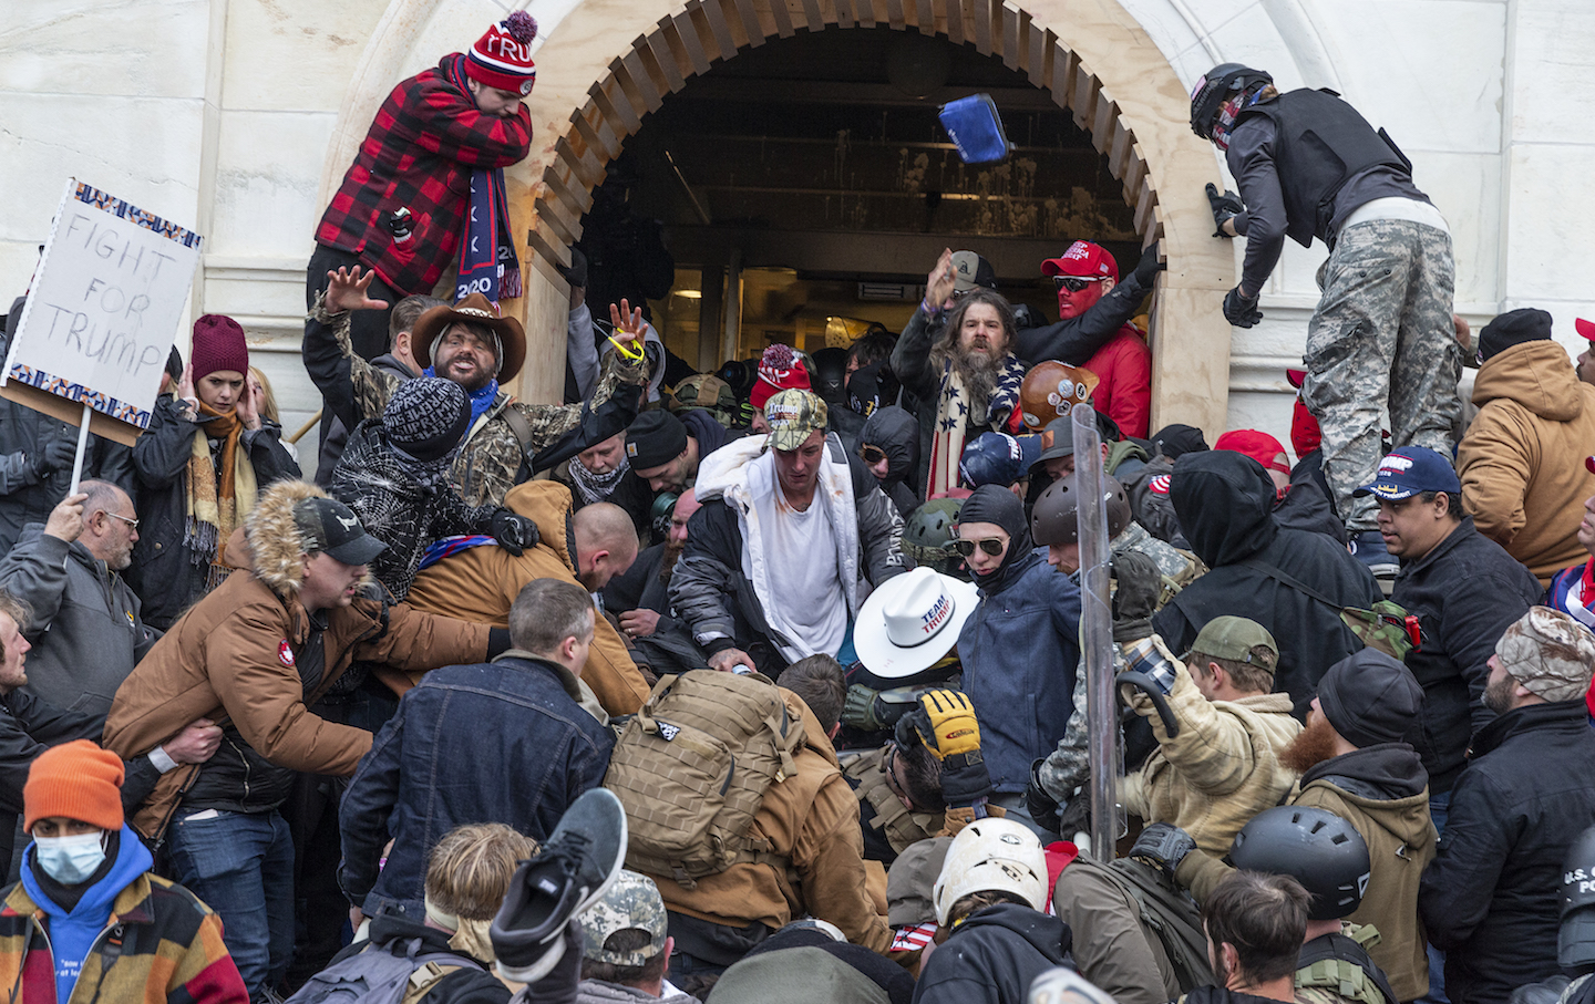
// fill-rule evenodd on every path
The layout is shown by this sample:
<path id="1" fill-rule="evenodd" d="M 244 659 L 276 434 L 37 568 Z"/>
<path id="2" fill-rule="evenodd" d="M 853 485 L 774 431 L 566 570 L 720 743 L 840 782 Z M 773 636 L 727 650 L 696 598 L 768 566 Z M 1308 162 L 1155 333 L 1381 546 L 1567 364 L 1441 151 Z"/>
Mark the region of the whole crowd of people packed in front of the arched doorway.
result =
<path id="1" fill-rule="evenodd" d="M 1330 247 L 1295 462 L 1150 429 L 1155 244 L 1042 261 L 1054 324 L 949 249 L 901 335 L 713 375 L 577 257 L 536 405 L 534 32 L 400 83 L 316 231 L 316 483 L 230 317 L 75 491 L 0 402 L 13 1001 L 1595 999 L 1595 371 L 1544 311 L 1471 338 L 1386 134 L 1191 96 L 1231 324 Z"/>

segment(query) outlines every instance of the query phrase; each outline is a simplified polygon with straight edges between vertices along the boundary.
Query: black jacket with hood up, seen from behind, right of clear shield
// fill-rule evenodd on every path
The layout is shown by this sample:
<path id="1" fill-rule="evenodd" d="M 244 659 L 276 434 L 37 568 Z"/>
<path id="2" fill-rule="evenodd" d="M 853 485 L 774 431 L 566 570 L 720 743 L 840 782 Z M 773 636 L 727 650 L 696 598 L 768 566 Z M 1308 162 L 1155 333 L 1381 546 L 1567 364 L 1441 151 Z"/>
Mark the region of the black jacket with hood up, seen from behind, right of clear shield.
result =
<path id="1" fill-rule="evenodd" d="M 1169 496 L 1191 550 L 1212 571 L 1158 610 L 1153 629 L 1185 652 L 1214 617 L 1255 620 L 1279 642 L 1274 690 L 1305 717 L 1324 673 L 1362 647 L 1340 610 L 1381 599 L 1373 575 L 1325 534 L 1282 529 L 1273 481 L 1239 453 L 1182 456 Z"/>

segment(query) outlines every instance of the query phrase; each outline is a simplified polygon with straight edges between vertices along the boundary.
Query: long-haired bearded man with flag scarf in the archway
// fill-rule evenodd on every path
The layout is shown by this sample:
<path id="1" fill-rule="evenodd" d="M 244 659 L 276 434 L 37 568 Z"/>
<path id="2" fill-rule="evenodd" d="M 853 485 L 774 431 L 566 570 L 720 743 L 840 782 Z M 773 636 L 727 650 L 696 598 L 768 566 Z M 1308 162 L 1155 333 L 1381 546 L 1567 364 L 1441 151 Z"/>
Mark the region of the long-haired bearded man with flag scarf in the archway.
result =
<path id="1" fill-rule="evenodd" d="M 892 371 L 919 398 L 916 477 L 925 497 L 959 488 L 965 440 L 1022 430 L 1024 363 L 1013 354 L 1013 308 L 995 285 L 975 252 L 941 252 L 924 303 L 892 349 Z"/>

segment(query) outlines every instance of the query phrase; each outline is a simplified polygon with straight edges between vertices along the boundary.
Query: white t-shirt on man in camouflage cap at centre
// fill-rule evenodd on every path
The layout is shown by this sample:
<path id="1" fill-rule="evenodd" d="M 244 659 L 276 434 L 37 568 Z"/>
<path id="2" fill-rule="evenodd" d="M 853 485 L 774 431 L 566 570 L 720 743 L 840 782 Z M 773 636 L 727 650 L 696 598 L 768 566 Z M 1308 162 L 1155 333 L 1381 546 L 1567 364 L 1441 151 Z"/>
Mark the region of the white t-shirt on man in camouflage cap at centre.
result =
<path id="1" fill-rule="evenodd" d="M 778 620 L 798 634 L 791 641 L 804 655 L 836 655 L 847 637 L 847 594 L 825 505 L 817 496 L 805 512 L 798 512 L 786 502 L 780 481 L 754 505 L 770 586 L 782 604 Z"/>

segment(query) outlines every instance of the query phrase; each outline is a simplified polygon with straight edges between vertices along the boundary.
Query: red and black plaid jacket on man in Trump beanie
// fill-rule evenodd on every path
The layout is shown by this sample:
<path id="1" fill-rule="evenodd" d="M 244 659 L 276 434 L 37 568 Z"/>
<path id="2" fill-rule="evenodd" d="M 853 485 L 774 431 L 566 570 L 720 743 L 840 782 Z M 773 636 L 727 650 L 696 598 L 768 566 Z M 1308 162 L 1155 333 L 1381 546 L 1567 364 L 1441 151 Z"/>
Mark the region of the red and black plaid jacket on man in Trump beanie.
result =
<path id="1" fill-rule="evenodd" d="M 531 150 L 531 115 L 477 110 L 437 69 L 400 81 L 376 112 L 354 164 L 316 228 L 316 242 L 351 252 L 402 295 L 431 293 L 466 225 L 471 171 L 507 167 Z M 407 206 L 412 236 L 394 244 L 388 215 Z"/>

